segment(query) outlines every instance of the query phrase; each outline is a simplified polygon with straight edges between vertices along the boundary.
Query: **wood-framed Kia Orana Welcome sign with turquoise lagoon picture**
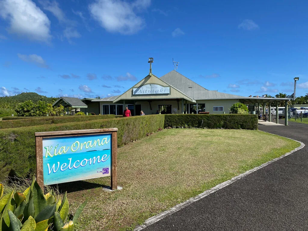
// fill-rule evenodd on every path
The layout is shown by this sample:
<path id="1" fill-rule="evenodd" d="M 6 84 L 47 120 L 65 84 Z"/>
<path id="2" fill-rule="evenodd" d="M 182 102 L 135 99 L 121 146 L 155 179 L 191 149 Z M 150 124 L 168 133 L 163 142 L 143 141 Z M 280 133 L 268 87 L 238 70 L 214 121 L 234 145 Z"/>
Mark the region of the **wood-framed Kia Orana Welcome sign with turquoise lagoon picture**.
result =
<path id="1" fill-rule="evenodd" d="M 35 132 L 39 186 L 111 176 L 111 190 L 117 189 L 117 131 Z"/>

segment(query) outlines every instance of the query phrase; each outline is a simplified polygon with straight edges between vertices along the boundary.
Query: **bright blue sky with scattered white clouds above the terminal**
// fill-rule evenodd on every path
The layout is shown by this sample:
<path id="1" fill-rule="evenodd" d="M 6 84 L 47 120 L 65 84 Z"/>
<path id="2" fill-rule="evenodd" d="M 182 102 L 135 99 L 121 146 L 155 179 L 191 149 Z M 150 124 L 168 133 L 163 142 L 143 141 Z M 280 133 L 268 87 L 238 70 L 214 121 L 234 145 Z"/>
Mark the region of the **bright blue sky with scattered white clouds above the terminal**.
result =
<path id="1" fill-rule="evenodd" d="M 209 90 L 308 92 L 307 1 L 0 0 L 0 96 L 119 95 L 173 69 Z"/>

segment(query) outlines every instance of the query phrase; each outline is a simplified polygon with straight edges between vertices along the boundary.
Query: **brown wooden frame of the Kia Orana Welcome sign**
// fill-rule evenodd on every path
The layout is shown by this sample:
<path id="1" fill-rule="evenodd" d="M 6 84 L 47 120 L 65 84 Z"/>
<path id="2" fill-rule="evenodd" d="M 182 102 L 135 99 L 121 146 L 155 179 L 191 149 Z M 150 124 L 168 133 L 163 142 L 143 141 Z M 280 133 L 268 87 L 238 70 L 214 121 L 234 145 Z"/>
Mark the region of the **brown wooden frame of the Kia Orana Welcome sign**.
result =
<path id="1" fill-rule="evenodd" d="M 111 134 L 111 190 L 117 189 L 117 131 L 118 128 L 101 128 L 56 132 L 35 132 L 35 150 L 36 150 L 36 180 L 39 186 L 44 188 L 43 175 L 43 138 L 52 137 L 70 137 L 70 136 L 87 136 L 99 134 Z"/>

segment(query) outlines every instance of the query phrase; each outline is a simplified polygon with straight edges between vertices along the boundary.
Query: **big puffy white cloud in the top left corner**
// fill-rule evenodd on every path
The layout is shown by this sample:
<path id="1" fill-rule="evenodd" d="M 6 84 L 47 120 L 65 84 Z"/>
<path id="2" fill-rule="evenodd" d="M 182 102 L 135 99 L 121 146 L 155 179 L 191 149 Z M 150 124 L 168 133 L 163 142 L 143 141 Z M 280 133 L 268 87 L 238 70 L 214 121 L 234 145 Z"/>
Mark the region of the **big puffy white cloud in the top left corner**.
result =
<path id="1" fill-rule="evenodd" d="M 49 19 L 31 0 L 0 1 L 0 17 L 10 22 L 12 34 L 46 43 L 51 39 Z"/>

